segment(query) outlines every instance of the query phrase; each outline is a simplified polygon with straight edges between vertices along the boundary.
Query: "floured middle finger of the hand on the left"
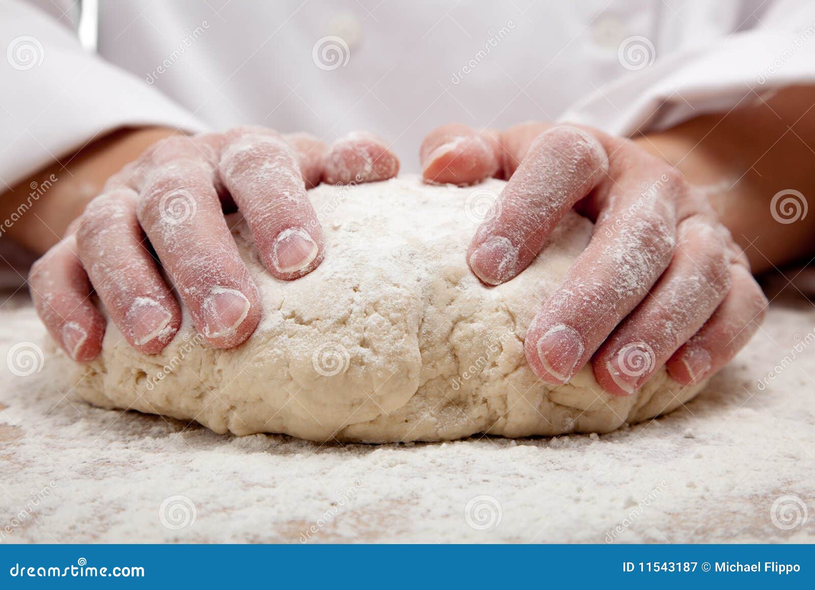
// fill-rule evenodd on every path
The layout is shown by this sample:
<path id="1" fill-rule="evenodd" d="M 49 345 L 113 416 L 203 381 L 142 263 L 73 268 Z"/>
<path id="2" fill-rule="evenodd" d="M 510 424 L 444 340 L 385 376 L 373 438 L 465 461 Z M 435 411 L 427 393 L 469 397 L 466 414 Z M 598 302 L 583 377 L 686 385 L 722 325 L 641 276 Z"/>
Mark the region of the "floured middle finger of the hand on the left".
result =
<path id="1" fill-rule="evenodd" d="M 189 140 L 169 140 L 151 158 L 136 215 L 210 344 L 231 348 L 260 321 L 258 289 L 240 259 L 213 186 L 213 171 Z M 303 189 L 302 181 L 297 187 Z"/>

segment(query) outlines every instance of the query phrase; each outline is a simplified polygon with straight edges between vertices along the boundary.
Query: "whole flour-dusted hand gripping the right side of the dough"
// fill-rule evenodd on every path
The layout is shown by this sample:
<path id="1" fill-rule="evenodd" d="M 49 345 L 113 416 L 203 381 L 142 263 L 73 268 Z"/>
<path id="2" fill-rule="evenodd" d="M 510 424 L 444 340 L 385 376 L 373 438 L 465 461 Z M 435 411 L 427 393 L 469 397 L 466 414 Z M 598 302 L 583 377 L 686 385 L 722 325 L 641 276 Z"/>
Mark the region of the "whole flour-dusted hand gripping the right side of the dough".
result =
<path id="1" fill-rule="evenodd" d="M 703 193 L 632 141 L 566 125 L 452 125 L 428 135 L 421 162 L 430 182 L 509 179 L 467 253 L 487 285 L 521 273 L 572 207 L 595 223 L 526 333 L 526 360 L 548 383 L 565 383 L 590 359 L 597 382 L 617 396 L 666 364 L 681 384 L 698 383 L 763 317 L 747 259 Z"/>

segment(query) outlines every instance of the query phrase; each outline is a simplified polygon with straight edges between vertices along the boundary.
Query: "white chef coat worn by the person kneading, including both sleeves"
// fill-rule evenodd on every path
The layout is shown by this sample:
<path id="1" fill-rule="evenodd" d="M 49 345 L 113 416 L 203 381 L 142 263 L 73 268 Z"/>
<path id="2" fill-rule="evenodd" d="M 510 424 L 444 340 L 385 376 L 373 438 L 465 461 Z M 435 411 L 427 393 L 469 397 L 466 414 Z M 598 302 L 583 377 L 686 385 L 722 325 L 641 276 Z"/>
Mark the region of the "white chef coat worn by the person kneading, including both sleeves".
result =
<path id="1" fill-rule="evenodd" d="M 815 73 L 795 0 L 99 0 L 96 53 L 77 6 L 0 0 L 0 189 L 121 126 L 368 129 L 415 171 L 447 122 L 632 135 Z"/>

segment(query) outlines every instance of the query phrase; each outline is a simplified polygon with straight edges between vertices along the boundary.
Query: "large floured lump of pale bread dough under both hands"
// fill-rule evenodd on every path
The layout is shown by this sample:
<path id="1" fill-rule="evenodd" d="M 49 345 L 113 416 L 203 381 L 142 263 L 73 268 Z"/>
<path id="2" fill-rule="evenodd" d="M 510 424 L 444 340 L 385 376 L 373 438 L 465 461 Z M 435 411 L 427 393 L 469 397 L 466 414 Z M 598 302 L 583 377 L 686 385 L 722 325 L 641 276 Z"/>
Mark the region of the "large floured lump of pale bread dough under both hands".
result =
<path id="1" fill-rule="evenodd" d="M 629 397 L 603 392 L 590 366 L 561 386 L 535 377 L 526 327 L 592 224 L 570 212 L 526 271 L 483 286 L 465 252 L 503 186 L 411 176 L 319 186 L 310 195 L 325 260 L 293 282 L 266 272 L 240 221 L 232 233 L 263 304 L 253 335 L 213 348 L 184 310 L 170 345 L 147 356 L 108 322 L 102 354 L 72 364 L 73 390 L 97 406 L 197 420 L 216 433 L 363 442 L 606 433 L 694 397 L 701 385 L 683 388 L 664 369 Z"/>

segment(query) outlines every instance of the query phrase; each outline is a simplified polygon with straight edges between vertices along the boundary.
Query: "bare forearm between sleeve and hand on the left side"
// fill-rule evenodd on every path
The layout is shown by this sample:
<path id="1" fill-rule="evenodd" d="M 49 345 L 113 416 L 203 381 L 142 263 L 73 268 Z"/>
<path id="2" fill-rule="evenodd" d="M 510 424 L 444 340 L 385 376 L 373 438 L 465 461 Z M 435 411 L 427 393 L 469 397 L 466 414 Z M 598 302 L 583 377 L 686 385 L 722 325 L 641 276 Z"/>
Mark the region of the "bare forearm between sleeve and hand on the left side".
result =
<path id="1" fill-rule="evenodd" d="M 42 254 L 59 241 L 110 175 L 173 134 L 166 127 L 121 129 L 37 171 L 0 195 L 0 232 Z"/>

